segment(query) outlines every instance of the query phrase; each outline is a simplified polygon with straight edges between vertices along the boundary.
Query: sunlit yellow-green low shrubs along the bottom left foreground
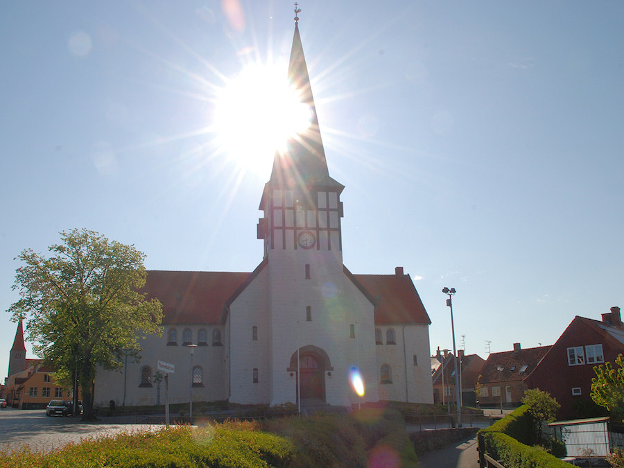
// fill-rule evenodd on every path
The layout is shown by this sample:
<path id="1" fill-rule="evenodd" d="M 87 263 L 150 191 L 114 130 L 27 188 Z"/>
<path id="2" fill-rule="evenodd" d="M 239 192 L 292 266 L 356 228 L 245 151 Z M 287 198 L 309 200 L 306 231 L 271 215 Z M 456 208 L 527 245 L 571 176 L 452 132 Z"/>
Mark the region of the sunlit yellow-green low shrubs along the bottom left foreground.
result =
<path id="1" fill-rule="evenodd" d="M 67 444 L 50 453 L 0 452 L 6 467 L 288 467 L 293 445 L 283 437 L 229 426 L 176 426 Z"/>

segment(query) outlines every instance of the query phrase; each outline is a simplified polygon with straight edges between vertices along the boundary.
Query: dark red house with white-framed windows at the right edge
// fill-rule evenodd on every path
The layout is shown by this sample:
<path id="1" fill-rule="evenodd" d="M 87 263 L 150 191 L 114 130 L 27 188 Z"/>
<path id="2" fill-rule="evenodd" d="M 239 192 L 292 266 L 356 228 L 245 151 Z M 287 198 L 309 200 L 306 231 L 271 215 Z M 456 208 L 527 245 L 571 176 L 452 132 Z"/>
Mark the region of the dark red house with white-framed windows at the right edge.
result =
<path id="1" fill-rule="evenodd" d="M 593 367 L 624 354 L 624 325 L 620 308 L 602 314 L 602 321 L 576 316 L 528 376 L 528 388 L 549 392 L 561 409 L 558 419 L 587 417 L 593 406 L 589 390 Z"/>

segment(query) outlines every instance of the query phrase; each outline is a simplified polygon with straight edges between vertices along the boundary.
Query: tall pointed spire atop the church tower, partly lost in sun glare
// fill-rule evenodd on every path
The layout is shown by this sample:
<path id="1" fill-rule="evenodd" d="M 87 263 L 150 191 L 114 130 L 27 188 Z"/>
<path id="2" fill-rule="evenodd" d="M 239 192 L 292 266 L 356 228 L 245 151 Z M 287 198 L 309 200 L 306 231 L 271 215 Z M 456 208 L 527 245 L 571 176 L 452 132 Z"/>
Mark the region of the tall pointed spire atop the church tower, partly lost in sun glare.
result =
<path id="1" fill-rule="evenodd" d="M 286 150 L 275 154 L 269 184 L 291 189 L 300 187 L 304 190 L 311 187 L 333 187 L 340 193 L 344 186 L 333 180 L 327 169 L 298 19 L 295 17 L 295 35 L 288 64 L 288 80 L 296 89 L 300 102 L 309 107 L 310 125 L 302 133 L 291 137 Z"/>

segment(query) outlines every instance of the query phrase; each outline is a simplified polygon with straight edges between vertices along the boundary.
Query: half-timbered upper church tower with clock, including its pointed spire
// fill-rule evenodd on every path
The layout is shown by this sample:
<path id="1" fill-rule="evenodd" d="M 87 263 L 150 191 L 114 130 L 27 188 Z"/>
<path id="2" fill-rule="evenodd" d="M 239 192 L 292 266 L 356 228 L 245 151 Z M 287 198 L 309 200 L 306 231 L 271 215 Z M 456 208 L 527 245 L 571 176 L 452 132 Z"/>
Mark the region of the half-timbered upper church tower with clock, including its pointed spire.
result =
<path id="1" fill-rule="evenodd" d="M 288 80 L 309 109 L 310 125 L 275 154 L 260 201 L 264 217 L 258 223 L 258 239 L 264 241 L 265 258 L 302 250 L 331 252 L 342 263 L 340 193 L 345 187 L 329 177 L 298 21 Z"/>

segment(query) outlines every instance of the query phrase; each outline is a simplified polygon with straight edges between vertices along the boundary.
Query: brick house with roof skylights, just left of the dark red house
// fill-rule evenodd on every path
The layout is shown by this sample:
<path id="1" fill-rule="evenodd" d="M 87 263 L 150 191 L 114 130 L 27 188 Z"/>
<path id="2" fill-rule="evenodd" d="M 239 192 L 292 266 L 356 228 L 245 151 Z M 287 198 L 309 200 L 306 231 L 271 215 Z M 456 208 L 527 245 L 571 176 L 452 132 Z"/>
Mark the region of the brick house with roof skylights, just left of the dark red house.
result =
<path id="1" fill-rule="evenodd" d="M 526 379 L 546 356 L 550 346 L 521 349 L 514 343 L 513 351 L 492 353 L 481 370 L 481 406 L 515 408 L 521 405 Z"/>

